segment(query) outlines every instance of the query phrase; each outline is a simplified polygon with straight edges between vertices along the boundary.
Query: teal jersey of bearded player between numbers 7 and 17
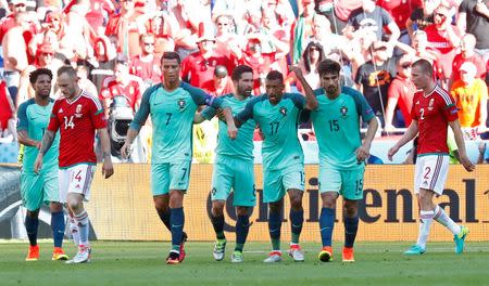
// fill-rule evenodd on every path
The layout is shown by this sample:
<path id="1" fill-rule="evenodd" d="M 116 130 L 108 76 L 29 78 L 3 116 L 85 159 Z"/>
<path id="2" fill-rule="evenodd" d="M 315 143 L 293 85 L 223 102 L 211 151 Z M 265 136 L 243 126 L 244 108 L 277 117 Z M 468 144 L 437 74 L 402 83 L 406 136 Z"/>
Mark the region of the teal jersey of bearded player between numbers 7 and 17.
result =
<path id="1" fill-rule="evenodd" d="M 239 114 L 248 102 L 252 98 L 247 98 L 242 101 L 236 99 L 234 94 L 227 94 L 222 96 L 223 104 L 233 110 L 233 116 Z M 211 120 L 216 114 L 216 109 L 213 107 L 206 107 L 202 112 L 202 116 Z M 244 160 L 253 160 L 253 133 L 256 123 L 254 120 L 248 120 L 238 129 L 238 135 L 235 140 L 229 139 L 227 135 L 227 125 L 220 120 L 220 132 L 217 138 L 217 146 L 215 148 L 216 155 L 231 156 L 235 158 L 241 158 Z"/>

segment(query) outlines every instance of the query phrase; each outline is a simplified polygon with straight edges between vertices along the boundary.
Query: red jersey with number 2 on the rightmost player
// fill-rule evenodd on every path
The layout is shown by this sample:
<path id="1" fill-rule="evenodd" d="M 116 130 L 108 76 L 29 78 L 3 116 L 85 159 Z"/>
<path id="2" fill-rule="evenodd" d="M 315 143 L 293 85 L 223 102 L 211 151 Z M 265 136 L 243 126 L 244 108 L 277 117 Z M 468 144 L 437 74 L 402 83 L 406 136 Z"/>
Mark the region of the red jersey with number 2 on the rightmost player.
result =
<path id="1" fill-rule="evenodd" d="M 449 153 L 448 122 L 459 118 L 455 101 L 446 90 L 436 86 L 429 93 L 414 93 L 411 117 L 417 120 L 419 136 L 417 154 Z"/>

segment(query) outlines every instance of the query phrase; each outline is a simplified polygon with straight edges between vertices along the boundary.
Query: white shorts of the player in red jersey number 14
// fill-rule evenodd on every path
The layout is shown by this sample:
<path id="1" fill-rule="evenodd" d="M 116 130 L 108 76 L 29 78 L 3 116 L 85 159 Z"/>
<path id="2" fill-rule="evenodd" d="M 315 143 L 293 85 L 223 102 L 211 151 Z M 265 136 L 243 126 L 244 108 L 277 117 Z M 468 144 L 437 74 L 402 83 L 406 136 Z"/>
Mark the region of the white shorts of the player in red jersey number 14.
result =
<path id="1" fill-rule="evenodd" d="M 96 170 L 95 165 L 79 164 L 58 171 L 60 184 L 60 202 L 66 203 L 68 193 L 84 195 L 84 200 L 90 199 L 90 185 Z"/>

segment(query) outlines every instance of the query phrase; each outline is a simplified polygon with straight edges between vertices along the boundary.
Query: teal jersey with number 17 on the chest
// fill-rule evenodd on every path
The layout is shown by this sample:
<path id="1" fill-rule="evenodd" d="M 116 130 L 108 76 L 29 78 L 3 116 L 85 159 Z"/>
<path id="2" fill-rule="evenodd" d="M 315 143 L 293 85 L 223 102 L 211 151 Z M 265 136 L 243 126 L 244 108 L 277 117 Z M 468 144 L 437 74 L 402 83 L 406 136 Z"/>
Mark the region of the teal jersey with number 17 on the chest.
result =
<path id="1" fill-rule="evenodd" d="M 240 122 L 254 119 L 260 126 L 264 135 L 263 165 L 267 170 L 280 170 L 304 162 L 297 133 L 304 104 L 304 96 L 298 93 L 284 93 L 276 105 L 272 105 L 268 95 L 263 94 L 251 100 L 236 116 Z"/>

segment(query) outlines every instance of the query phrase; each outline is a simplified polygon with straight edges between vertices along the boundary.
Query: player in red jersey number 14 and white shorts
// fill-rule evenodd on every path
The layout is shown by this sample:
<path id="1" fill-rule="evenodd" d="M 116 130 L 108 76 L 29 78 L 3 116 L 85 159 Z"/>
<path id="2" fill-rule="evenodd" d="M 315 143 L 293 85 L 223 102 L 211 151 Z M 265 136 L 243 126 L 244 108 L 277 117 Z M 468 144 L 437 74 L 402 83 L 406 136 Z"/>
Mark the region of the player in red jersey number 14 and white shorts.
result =
<path id="1" fill-rule="evenodd" d="M 36 171 L 41 168 L 42 156 L 51 147 L 54 134 L 60 130 L 60 202 L 66 203 L 68 207 L 70 230 L 78 244 L 78 253 L 68 262 L 83 263 L 90 261 L 91 251 L 88 243 L 88 213 L 83 202 L 90 198 L 90 184 L 97 164 L 93 151 L 96 130 L 102 145 L 102 174 L 106 179 L 114 173 L 114 169 L 106 121 L 98 99 L 78 87 L 76 70 L 71 66 L 63 66 L 58 70 L 58 87 L 63 96 L 54 102 L 34 168 Z"/>

